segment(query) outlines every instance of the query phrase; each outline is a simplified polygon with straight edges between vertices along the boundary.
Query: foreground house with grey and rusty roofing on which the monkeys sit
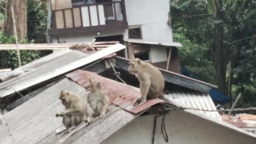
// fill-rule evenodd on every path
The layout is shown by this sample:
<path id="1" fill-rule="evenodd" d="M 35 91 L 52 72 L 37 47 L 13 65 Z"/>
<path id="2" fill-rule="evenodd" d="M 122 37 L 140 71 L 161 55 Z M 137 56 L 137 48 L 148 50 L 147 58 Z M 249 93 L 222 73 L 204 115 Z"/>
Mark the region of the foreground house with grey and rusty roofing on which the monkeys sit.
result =
<path id="1" fill-rule="evenodd" d="M 174 72 L 160 69 L 170 103 L 153 99 L 133 106 L 140 96 L 138 80 L 127 71 L 128 59 L 112 55 L 123 48 L 114 44 L 90 52 L 65 49 L 20 67 L 32 70 L 0 83 L 1 100 L 19 97 L 2 117 L 0 143 L 59 143 L 61 136 L 55 130 L 62 126 L 62 120 L 55 114 L 63 110 L 58 100 L 60 90 L 70 90 L 85 99 L 84 86 L 89 78 L 101 82 L 112 104 L 104 118 L 78 130 L 64 144 L 146 144 L 152 138 L 154 144 L 162 144 L 164 129 L 170 143 L 255 143 L 255 134 L 223 122 L 216 111 L 204 111 L 216 110 L 208 95 L 216 86 Z"/>

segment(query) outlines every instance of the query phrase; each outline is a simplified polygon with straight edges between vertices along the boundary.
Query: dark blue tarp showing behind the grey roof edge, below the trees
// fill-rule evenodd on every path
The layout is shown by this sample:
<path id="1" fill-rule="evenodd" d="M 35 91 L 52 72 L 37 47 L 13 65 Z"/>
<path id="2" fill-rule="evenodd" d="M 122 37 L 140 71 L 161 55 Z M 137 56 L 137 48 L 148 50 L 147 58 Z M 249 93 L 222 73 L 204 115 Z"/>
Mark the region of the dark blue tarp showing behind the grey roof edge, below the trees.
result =
<path id="1" fill-rule="evenodd" d="M 192 74 L 192 72 L 190 72 L 188 69 L 186 69 L 184 66 L 180 67 L 180 71 L 181 71 L 182 75 L 198 80 L 198 78 L 194 74 Z M 215 88 L 212 88 L 212 90 L 210 90 L 209 95 L 213 101 L 220 102 L 223 104 L 231 102 L 231 100 L 232 100 L 230 97 L 225 96 L 224 94 L 220 93 Z"/>

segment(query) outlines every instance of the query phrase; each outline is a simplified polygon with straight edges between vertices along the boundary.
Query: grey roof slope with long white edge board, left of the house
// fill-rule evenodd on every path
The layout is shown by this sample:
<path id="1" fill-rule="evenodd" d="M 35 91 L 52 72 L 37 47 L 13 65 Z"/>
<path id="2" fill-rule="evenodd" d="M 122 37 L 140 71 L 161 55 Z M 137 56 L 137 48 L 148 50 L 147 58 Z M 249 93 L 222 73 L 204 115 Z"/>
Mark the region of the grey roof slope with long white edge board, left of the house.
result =
<path id="1" fill-rule="evenodd" d="M 44 58 L 36 60 L 18 69 L 33 68 L 29 72 L 16 76 L 0 83 L 0 97 L 14 94 L 86 64 L 96 61 L 104 56 L 124 49 L 122 44 L 114 44 L 108 48 L 86 54 L 78 50 L 61 50 Z"/>

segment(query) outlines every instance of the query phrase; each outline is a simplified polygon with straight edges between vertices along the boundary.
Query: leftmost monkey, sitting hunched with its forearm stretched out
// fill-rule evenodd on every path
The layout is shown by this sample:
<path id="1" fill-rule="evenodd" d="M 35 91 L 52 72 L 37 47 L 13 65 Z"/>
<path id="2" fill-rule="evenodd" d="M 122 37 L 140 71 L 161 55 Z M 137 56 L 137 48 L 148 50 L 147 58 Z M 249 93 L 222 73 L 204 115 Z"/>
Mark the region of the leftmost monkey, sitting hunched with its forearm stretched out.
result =
<path id="1" fill-rule="evenodd" d="M 69 132 L 69 127 L 77 126 L 86 116 L 86 106 L 80 96 L 68 90 L 62 90 L 59 99 L 65 106 L 65 111 L 56 114 L 56 117 L 63 117 L 62 123 L 66 127 L 67 132 Z"/>

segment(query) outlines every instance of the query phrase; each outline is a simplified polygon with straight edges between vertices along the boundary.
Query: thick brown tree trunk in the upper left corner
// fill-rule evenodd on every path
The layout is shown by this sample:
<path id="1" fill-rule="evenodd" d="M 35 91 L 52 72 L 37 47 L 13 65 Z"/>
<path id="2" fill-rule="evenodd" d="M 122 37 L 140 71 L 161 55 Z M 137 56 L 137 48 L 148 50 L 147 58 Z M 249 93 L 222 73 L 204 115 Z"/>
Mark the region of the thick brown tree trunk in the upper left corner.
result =
<path id="1" fill-rule="evenodd" d="M 18 37 L 26 38 L 27 37 L 27 0 L 8 0 L 4 33 L 9 35 L 14 35 L 12 11 L 11 11 L 12 5 L 14 10 L 14 18 L 16 22 Z"/>

